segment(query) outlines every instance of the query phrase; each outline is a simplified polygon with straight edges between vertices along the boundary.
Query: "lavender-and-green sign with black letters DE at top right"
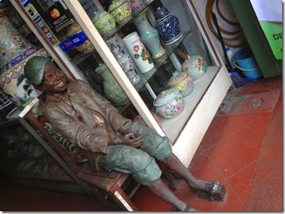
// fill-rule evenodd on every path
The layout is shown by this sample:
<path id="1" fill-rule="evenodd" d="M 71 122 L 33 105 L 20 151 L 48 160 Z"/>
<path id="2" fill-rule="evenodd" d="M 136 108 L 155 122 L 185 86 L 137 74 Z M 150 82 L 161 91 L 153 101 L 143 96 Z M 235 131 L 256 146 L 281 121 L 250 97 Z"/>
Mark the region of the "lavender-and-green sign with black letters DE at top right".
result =
<path id="1" fill-rule="evenodd" d="M 283 56 L 282 1 L 250 0 L 265 37 L 277 60 Z"/>

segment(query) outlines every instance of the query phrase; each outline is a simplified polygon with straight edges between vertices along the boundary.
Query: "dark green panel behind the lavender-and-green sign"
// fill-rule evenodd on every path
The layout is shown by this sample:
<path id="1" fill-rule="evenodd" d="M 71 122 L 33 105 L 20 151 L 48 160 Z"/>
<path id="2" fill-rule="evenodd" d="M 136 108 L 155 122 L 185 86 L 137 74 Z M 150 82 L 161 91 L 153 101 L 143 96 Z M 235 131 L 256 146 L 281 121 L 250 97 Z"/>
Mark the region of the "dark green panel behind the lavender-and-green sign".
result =
<path id="1" fill-rule="evenodd" d="M 277 61 L 274 57 L 250 0 L 229 1 L 234 8 L 238 22 L 241 24 L 263 76 L 267 78 L 281 75 L 282 61 Z"/>

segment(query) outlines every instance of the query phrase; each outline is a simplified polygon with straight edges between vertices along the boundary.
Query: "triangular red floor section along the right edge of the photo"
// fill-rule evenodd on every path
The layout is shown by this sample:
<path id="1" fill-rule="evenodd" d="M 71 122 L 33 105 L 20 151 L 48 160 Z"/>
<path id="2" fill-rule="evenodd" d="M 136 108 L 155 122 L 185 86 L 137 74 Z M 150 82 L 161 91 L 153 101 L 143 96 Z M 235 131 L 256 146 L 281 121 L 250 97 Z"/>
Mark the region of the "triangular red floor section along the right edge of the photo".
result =
<path id="1" fill-rule="evenodd" d="M 273 113 L 260 158 L 257 161 L 255 175 L 245 201 L 245 210 L 283 210 L 283 121 L 280 117 L 281 106 L 282 103 L 279 101 Z"/>

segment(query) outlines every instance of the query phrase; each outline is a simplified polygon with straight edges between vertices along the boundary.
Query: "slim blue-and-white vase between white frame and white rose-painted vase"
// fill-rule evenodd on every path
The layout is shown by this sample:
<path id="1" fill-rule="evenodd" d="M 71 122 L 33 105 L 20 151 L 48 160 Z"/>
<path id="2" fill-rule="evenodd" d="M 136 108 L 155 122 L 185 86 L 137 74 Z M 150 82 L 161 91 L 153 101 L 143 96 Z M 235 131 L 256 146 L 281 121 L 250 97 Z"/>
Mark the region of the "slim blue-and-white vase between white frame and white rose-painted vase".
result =
<path id="1" fill-rule="evenodd" d="M 126 73 L 131 83 L 133 85 L 138 84 L 138 82 L 140 82 L 140 76 L 135 73 L 131 56 L 126 53 L 122 53 L 119 47 L 114 46 L 114 44 L 111 44 L 111 51 L 114 53 L 116 60 L 123 68 L 123 71 Z"/>

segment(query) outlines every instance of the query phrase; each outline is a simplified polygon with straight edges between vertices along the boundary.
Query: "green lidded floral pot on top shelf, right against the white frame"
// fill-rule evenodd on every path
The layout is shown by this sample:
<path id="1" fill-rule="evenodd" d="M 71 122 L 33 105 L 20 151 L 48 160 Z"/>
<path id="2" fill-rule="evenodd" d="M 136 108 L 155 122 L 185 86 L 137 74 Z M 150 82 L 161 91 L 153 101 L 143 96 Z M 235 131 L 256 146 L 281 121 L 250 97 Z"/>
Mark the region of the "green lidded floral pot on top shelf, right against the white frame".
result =
<path id="1" fill-rule="evenodd" d="M 94 12 L 93 14 L 94 18 L 92 19 L 92 23 L 103 38 L 110 37 L 111 34 L 116 32 L 116 22 L 112 15 L 104 10 Z"/>

